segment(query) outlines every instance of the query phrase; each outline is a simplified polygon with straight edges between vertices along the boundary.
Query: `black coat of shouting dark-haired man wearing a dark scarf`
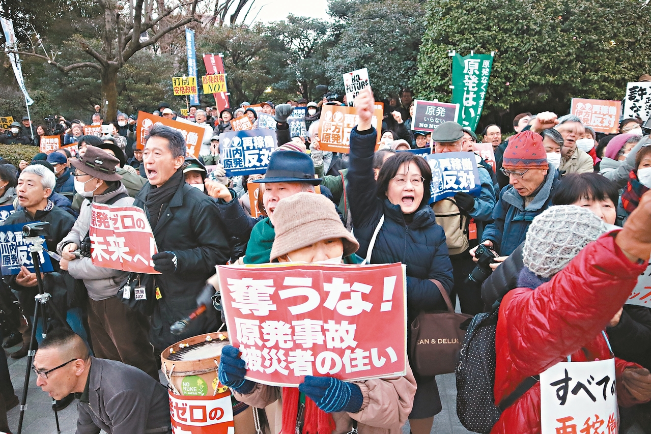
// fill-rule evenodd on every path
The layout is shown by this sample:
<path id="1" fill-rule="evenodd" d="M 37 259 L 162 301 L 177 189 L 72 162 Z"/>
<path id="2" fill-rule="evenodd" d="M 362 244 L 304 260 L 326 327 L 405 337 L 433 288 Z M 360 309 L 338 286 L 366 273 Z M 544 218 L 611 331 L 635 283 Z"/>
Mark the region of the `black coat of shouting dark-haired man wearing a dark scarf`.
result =
<path id="1" fill-rule="evenodd" d="M 135 197 L 134 206 L 145 206 L 150 183 Z M 141 283 L 159 288 L 162 298 L 154 307 L 150 340 L 159 351 L 179 340 L 213 331 L 214 315 L 199 316 L 179 336 L 170 334 L 174 322 L 197 308 L 197 296 L 208 277 L 215 274 L 216 264 L 226 264 L 230 257 L 228 236 L 214 200 L 198 189 L 181 182 L 156 226 L 152 228 L 159 252 L 176 254 L 176 271 L 167 275 L 141 275 Z M 152 293 L 152 292 L 150 292 Z"/>

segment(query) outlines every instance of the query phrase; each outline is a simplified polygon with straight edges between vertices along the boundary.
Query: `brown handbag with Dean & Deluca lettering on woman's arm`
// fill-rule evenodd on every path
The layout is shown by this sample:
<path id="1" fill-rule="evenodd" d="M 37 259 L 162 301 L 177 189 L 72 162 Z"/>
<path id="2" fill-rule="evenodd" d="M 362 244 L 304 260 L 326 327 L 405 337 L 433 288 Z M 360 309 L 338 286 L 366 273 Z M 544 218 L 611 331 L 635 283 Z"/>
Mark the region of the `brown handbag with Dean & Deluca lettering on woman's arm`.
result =
<path id="1" fill-rule="evenodd" d="M 443 285 L 432 280 L 447 305 L 447 312 L 421 312 L 411 323 L 411 369 L 423 377 L 452 373 L 464 344 L 472 315 L 456 314 Z"/>

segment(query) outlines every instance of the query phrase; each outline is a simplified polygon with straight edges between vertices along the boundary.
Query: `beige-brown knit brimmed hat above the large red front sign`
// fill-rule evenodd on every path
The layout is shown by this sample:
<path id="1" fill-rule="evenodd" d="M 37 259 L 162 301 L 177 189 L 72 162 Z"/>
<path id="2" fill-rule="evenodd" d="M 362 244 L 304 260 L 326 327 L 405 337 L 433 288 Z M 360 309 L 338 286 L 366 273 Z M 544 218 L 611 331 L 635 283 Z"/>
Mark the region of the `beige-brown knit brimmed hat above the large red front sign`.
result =
<path id="1" fill-rule="evenodd" d="M 359 243 L 339 219 L 335 204 L 318 193 L 296 193 L 286 197 L 273 211 L 276 236 L 271 246 L 271 261 L 303 249 L 312 243 L 341 238 L 344 257 L 359 249 Z"/>

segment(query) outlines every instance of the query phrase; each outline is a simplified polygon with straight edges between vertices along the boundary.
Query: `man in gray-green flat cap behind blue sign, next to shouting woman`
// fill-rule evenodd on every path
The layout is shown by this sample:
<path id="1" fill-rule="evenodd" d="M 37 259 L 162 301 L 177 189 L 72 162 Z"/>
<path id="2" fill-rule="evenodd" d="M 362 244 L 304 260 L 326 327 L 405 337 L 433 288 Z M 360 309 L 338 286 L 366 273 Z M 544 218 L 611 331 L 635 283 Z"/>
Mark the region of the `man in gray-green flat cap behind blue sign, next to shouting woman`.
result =
<path id="1" fill-rule="evenodd" d="M 432 140 L 436 154 L 462 152 L 464 129 L 456 122 L 443 122 L 432 133 Z M 472 157 L 475 157 L 475 154 L 472 154 Z M 452 262 L 454 287 L 450 299 L 454 304 L 455 295 L 458 295 L 461 311 L 471 315 L 483 312 L 484 303 L 480 286 L 466 284 L 468 275 L 475 268 L 469 252 L 473 245 L 477 245 L 484 221 L 490 220 L 495 208 L 493 181 L 488 171 L 479 164 L 480 161 L 482 161 L 481 157 L 475 159 L 482 184 L 480 197 L 473 197 L 468 193 L 456 193 L 454 197 L 444 198 L 432 204 L 436 223 L 445 230 L 445 243 Z"/>

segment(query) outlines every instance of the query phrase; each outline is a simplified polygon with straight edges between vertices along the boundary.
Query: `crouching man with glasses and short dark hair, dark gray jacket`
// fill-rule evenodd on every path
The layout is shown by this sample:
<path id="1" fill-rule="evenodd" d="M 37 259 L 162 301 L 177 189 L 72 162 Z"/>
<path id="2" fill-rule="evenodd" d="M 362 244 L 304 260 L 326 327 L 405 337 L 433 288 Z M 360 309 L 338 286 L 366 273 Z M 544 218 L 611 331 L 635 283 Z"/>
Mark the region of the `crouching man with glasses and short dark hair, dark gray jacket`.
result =
<path id="1" fill-rule="evenodd" d="M 36 385 L 55 400 L 79 400 L 77 434 L 171 433 L 167 390 L 133 366 L 97 359 L 78 334 L 49 332 L 34 357 Z"/>

